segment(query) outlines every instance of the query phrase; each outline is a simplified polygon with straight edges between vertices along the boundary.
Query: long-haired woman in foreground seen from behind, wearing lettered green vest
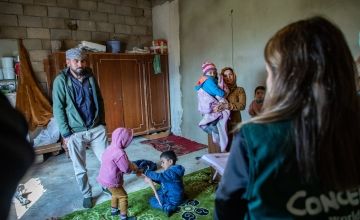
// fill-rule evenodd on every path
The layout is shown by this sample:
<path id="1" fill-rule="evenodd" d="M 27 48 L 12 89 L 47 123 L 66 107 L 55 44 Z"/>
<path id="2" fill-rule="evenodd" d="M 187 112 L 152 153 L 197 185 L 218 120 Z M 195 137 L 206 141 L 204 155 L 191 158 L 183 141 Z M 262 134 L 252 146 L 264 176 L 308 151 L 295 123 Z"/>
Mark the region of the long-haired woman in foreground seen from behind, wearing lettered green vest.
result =
<path id="1" fill-rule="evenodd" d="M 358 218 L 360 107 L 344 35 L 312 17 L 279 30 L 264 54 L 263 112 L 236 133 L 215 219 Z"/>

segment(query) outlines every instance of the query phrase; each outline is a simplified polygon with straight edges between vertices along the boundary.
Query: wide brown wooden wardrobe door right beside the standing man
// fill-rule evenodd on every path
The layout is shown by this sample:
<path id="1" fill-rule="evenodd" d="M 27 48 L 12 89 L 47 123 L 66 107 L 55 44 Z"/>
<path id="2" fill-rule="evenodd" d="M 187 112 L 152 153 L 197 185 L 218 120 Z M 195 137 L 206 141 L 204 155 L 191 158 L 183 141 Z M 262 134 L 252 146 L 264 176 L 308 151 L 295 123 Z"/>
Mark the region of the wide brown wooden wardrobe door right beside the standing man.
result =
<path id="1" fill-rule="evenodd" d="M 105 104 L 108 132 L 131 128 L 134 135 L 147 130 L 141 61 L 135 55 L 94 54 L 93 69 Z"/>

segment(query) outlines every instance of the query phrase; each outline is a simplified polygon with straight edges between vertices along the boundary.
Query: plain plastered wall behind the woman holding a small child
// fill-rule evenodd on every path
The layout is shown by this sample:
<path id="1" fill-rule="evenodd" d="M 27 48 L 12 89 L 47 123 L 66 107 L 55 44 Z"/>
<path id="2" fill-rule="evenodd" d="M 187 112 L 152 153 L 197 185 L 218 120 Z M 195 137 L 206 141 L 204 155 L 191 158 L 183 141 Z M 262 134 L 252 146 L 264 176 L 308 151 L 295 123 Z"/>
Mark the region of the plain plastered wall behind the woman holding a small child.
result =
<path id="1" fill-rule="evenodd" d="M 207 143 L 207 136 L 197 126 L 201 116 L 197 112 L 194 84 L 201 74 L 204 60 L 212 60 L 219 69 L 232 66 L 234 51 L 237 83 L 245 88 L 247 94 L 246 110 L 241 113 L 246 120 L 254 88 L 265 84 L 265 43 L 289 22 L 311 15 L 324 15 L 342 29 L 353 56 L 360 55 L 359 0 L 181 0 L 179 14 L 184 109 L 181 128 L 185 137 L 201 143 Z"/>

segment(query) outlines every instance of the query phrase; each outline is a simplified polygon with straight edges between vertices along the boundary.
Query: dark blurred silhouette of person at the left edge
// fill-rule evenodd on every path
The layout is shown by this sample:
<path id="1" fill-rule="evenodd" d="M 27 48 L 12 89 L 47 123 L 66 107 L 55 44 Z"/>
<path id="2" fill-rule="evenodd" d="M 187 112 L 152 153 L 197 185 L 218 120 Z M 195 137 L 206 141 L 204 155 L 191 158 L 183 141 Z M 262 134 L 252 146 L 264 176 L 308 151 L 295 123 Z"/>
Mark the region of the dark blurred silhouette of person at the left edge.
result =
<path id="1" fill-rule="evenodd" d="M 34 148 L 26 140 L 28 125 L 0 92 L 0 219 L 7 219 L 12 198 L 21 178 L 35 159 Z"/>

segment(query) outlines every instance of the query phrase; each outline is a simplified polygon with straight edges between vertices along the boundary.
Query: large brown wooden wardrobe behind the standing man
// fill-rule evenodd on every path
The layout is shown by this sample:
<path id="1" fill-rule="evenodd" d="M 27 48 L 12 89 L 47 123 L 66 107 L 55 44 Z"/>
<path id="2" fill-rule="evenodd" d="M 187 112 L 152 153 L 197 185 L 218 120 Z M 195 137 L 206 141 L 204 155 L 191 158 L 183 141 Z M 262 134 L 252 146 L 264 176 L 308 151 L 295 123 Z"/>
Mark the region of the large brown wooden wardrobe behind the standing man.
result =
<path id="1" fill-rule="evenodd" d="M 117 127 L 131 128 L 134 135 L 170 128 L 167 55 L 160 55 L 160 59 L 162 71 L 155 74 L 154 55 L 88 54 L 104 98 L 109 135 Z M 51 54 L 47 69 L 57 73 L 64 63 L 64 53 Z M 56 73 L 48 73 L 49 81 Z"/>

